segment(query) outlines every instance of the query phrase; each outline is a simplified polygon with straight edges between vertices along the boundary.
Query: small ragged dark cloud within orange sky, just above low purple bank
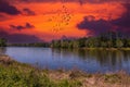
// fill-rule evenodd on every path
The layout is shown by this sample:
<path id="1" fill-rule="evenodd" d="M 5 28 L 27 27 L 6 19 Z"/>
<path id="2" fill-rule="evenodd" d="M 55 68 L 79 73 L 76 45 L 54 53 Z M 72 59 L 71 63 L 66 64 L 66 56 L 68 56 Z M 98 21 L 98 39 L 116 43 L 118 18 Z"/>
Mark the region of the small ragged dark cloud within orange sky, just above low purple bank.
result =
<path id="1" fill-rule="evenodd" d="M 17 30 L 22 30 L 22 29 L 28 29 L 28 28 L 34 28 L 35 26 L 29 24 L 29 23 L 26 23 L 25 26 L 22 26 L 22 25 L 10 25 L 11 28 L 13 29 L 17 29 Z"/>

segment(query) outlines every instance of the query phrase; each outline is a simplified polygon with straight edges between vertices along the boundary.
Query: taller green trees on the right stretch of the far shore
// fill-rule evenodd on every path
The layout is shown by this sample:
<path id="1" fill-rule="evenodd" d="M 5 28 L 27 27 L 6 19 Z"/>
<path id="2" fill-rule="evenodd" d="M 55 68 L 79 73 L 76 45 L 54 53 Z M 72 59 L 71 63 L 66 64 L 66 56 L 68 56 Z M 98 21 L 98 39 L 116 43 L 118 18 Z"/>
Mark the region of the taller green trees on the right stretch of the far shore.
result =
<path id="1" fill-rule="evenodd" d="M 52 48 L 130 48 L 130 38 L 109 32 L 96 37 L 53 40 Z"/>

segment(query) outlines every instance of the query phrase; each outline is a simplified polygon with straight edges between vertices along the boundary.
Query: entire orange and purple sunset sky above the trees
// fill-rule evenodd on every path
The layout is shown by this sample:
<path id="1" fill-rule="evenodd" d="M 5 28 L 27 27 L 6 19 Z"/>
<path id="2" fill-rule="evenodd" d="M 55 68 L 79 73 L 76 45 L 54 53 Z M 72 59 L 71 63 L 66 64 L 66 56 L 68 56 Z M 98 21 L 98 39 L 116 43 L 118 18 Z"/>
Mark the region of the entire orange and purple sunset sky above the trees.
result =
<path id="1" fill-rule="evenodd" d="M 129 0 L 0 0 L 0 37 L 39 42 L 130 33 Z"/>

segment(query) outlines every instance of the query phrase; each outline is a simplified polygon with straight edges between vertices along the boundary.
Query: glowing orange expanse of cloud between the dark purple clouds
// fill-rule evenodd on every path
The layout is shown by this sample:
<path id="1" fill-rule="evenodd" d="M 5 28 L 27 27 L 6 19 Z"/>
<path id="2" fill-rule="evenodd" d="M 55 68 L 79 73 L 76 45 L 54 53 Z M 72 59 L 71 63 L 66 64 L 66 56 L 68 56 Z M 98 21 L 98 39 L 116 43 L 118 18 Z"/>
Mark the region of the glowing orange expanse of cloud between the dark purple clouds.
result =
<path id="1" fill-rule="evenodd" d="M 11 16 L 10 20 L 0 22 L 2 27 L 9 28 L 10 33 L 35 35 L 41 39 L 52 40 L 54 38 L 61 38 L 63 35 L 67 37 L 84 37 L 87 30 L 79 30 L 76 25 L 82 21 L 83 16 L 93 15 L 96 20 L 116 20 L 126 12 L 126 9 L 121 3 L 86 3 L 80 5 L 79 3 L 17 3 L 14 4 L 20 11 L 28 9 L 36 13 L 36 15 L 25 15 L 24 12 L 21 15 Z M 67 21 L 66 17 L 69 17 Z M 9 25 L 24 25 L 30 23 L 35 27 L 29 29 L 23 29 L 22 32 L 10 30 Z"/>

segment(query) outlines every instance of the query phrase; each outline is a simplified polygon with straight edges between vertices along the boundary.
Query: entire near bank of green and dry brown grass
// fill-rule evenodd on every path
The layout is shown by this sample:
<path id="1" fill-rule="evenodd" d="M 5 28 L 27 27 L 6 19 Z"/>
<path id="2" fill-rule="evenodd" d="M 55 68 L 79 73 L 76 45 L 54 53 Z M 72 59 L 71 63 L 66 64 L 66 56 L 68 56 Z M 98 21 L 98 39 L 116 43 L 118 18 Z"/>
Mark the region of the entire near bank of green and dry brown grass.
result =
<path id="1" fill-rule="evenodd" d="M 39 70 L 0 55 L 0 87 L 129 87 L 123 72 L 87 74 L 78 70 Z"/>

